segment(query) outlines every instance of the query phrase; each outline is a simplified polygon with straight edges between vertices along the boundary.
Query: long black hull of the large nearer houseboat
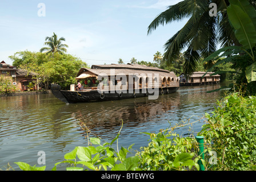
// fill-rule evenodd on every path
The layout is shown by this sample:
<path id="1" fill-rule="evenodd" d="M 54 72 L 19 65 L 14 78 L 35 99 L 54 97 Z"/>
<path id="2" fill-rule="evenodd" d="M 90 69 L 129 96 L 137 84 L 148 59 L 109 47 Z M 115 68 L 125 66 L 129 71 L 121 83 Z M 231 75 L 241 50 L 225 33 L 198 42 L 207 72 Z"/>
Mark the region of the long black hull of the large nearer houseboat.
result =
<path id="1" fill-rule="evenodd" d="M 62 102 L 67 104 L 73 104 L 77 102 L 99 102 L 99 101 L 113 101 L 113 100 L 122 100 L 127 98 L 136 98 L 136 97 L 148 97 L 149 93 L 142 93 L 142 89 L 127 90 L 127 93 L 98 93 L 98 90 L 90 91 L 69 91 L 69 90 L 60 90 L 59 85 L 52 85 L 51 91 L 55 97 L 59 98 Z M 174 93 L 178 90 L 178 87 L 168 87 L 168 88 L 159 88 L 159 95 Z M 131 92 L 129 92 L 131 91 Z"/>

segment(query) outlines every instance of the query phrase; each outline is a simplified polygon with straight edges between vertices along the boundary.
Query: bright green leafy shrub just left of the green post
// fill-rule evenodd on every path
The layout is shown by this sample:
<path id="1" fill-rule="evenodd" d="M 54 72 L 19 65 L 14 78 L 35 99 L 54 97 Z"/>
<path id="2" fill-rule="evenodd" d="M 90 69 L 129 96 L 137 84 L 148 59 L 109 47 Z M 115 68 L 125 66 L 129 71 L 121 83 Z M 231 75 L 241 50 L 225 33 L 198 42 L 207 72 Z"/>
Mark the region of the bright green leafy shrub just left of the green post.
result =
<path id="1" fill-rule="evenodd" d="M 198 144 L 195 138 L 182 138 L 170 131 L 167 133 L 167 130 L 159 134 L 145 134 L 150 135 L 151 142 L 147 147 L 142 147 L 141 152 L 137 152 L 142 170 L 199 170 L 198 160 L 205 163 L 201 156 L 197 156 Z"/>

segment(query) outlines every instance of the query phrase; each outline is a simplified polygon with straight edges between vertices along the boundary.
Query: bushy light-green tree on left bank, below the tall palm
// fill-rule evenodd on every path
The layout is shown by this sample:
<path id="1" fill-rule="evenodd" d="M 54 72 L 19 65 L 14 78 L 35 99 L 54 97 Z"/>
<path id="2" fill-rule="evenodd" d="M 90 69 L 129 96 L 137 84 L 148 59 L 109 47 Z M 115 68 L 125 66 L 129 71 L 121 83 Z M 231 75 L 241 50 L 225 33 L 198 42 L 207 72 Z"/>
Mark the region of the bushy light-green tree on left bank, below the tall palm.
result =
<path id="1" fill-rule="evenodd" d="M 67 88 L 75 83 L 79 69 L 87 68 L 87 64 L 78 57 L 58 52 L 53 57 L 41 52 L 21 51 L 9 57 L 16 67 L 38 73 L 35 78 L 45 84 L 46 88 L 49 82 L 55 82 L 62 88 Z"/>

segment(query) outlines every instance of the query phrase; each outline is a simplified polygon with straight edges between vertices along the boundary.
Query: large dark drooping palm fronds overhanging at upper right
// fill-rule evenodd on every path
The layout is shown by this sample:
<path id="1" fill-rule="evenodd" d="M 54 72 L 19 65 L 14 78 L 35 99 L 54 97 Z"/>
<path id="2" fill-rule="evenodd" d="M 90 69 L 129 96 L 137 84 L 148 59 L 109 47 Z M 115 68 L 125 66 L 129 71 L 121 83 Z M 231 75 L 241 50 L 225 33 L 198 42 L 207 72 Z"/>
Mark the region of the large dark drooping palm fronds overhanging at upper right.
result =
<path id="1" fill-rule="evenodd" d="M 249 0 L 255 7 L 255 0 Z M 209 5 L 217 5 L 217 16 L 209 15 Z M 218 46 L 238 46 L 233 27 L 227 17 L 229 0 L 184 0 L 167 7 L 148 27 L 149 35 L 159 25 L 188 19 L 185 26 L 174 34 L 164 45 L 163 60 L 168 64 L 177 59 L 185 49 L 185 64 L 183 71 L 187 76 L 194 72 L 197 61 L 207 57 L 218 49 Z M 209 63 L 210 64 L 210 63 Z"/>

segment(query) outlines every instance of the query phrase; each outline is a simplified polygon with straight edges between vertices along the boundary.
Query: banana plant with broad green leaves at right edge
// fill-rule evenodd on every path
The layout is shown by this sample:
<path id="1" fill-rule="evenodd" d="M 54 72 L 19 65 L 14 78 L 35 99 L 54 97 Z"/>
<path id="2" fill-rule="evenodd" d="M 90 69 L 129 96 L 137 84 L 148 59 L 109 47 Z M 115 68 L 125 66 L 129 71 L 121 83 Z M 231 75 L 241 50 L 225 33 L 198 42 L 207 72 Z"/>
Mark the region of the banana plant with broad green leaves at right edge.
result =
<path id="1" fill-rule="evenodd" d="M 247 53 L 251 60 L 255 62 L 253 47 L 256 44 L 256 11 L 247 0 L 229 0 L 229 2 L 227 15 L 230 25 L 234 28 L 235 37 L 241 46 L 223 47 L 206 57 L 204 61 L 218 60 L 207 72 L 210 72 L 211 69 L 221 63 L 231 61 L 234 56 L 239 56 L 238 54 L 241 52 Z M 219 59 L 223 56 L 226 56 L 226 58 Z M 245 74 L 247 82 L 256 81 L 256 63 L 246 67 Z"/>

